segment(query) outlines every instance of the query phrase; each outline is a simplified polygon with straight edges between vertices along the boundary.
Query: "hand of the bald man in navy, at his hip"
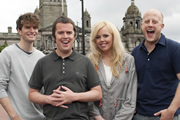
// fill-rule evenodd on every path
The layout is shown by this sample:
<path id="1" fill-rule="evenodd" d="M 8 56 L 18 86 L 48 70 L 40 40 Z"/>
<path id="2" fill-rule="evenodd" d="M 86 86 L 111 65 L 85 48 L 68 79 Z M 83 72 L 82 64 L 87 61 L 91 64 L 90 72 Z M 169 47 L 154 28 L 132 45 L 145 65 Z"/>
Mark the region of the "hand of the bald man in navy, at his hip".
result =
<path id="1" fill-rule="evenodd" d="M 154 116 L 160 115 L 160 120 L 172 120 L 174 118 L 174 112 L 169 109 L 164 109 L 154 114 Z"/>

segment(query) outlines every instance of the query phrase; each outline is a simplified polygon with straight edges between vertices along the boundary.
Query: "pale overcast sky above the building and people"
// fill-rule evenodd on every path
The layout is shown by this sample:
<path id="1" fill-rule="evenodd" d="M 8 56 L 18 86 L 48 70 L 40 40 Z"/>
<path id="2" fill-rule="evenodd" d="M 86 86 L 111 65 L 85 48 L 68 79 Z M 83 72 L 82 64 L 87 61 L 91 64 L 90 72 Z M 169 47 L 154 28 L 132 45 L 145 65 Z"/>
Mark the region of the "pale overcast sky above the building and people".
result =
<path id="1" fill-rule="evenodd" d="M 67 0 L 68 17 L 81 26 L 80 0 Z M 84 9 L 91 15 L 91 24 L 108 20 L 121 29 L 123 17 L 131 0 L 84 0 Z M 159 9 L 164 14 L 163 33 L 166 37 L 180 41 L 180 0 L 135 0 L 135 5 L 143 15 L 150 8 Z M 39 7 L 39 0 L 1 0 L 0 32 L 7 32 L 11 26 L 16 32 L 16 20 L 19 15 L 34 12 Z"/>

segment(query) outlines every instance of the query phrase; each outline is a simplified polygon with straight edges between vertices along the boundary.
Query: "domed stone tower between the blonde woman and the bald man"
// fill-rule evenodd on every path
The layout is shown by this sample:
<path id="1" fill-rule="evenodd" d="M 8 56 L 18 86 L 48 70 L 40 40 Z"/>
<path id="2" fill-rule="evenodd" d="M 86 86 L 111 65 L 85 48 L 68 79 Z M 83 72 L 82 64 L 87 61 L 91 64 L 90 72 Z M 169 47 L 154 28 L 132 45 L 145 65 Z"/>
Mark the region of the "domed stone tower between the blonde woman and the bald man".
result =
<path id="1" fill-rule="evenodd" d="M 125 13 L 123 27 L 121 28 L 122 41 L 129 52 L 144 38 L 141 31 L 141 21 L 141 13 L 134 4 L 134 0 L 131 0 L 131 5 Z"/>

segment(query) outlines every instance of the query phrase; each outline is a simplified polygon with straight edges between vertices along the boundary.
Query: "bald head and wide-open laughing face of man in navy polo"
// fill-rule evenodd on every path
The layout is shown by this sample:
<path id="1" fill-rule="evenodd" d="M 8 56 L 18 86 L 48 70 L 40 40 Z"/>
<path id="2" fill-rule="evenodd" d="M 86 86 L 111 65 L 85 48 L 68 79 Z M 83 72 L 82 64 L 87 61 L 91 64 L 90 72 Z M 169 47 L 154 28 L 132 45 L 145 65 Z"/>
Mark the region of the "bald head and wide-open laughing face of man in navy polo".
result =
<path id="1" fill-rule="evenodd" d="M 145 42 L 157 43 L 163 28 L 163 16 L 160 11 L 151 9 L 144 14 L 141 29 L 144 33 Z"/>

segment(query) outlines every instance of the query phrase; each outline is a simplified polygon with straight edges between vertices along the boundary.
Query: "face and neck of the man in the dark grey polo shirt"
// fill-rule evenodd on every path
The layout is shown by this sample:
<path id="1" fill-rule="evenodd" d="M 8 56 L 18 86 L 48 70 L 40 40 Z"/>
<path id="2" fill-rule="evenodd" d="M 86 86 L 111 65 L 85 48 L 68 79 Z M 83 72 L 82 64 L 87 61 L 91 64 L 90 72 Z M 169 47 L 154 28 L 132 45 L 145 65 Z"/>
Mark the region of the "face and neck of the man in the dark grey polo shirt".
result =
<path id="1" fill-rule="evenodd" d="M 74 44 L 74 29 L 71 23 L 57 23 L 56 24 L 56 52 L 59 56 L 68 56 L 72 53 Z"/>

